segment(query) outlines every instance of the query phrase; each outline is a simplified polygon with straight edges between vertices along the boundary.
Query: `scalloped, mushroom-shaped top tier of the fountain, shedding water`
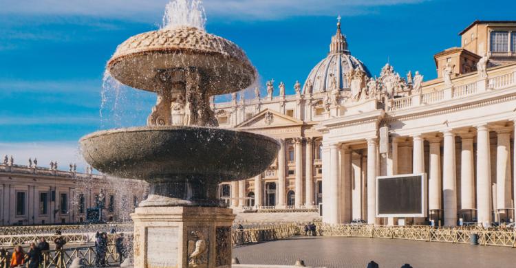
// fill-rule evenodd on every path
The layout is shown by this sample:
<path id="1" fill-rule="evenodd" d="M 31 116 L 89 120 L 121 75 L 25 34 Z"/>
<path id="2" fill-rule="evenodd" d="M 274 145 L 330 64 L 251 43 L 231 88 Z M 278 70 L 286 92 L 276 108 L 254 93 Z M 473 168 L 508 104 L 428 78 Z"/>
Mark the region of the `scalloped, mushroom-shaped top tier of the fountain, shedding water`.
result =
<path id="1" fill-rule="evenodd" d="M 255 67 L 235 43 L 186 26 L 132 36 L 107 63 L 116 80 L 147 91 L 165 87 L 159 79 L 161 70 L 189 67 L 204 74 L 204 90 L 210 96 L 246 89 L 257 77 Z"/>

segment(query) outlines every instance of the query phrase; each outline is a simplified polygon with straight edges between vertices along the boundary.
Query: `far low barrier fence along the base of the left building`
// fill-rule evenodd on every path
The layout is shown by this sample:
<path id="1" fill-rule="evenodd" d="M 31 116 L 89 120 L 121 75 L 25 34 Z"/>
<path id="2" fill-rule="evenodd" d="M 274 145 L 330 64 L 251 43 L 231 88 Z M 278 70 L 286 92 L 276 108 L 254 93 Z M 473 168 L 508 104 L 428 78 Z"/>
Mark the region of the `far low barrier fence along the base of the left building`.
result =
<path id="1" fill-rule="evenodd" d="M 57 231 L 65 233 L 88 232 L 132 232 L 133 223 L 106 223 L 106 224 L 81 224 L 81 225 L 34 225 L 34 226 L 3 226 L 0 227 L 0 235 L 26 235 L 26 234 L 55 234 Z"/>

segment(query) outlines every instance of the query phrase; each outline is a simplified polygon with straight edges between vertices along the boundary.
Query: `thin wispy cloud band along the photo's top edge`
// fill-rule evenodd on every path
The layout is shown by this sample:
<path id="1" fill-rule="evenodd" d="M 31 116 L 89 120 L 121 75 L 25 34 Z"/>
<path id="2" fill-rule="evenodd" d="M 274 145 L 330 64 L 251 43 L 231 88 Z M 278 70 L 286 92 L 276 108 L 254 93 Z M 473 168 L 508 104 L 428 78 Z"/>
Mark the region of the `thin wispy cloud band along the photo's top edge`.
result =
<path id="1" fill-rule="evenodd" d="M 268 20 L 288 16 L 354 16 L 380 5 L 420 3 L 427 0 L 205 0 L 208 19 Z M 0 0 L 0 14 L 63 14 L 109 16 L 159 21 L 168 0 Z M 158 16 L 157 18 L 155 16 Z"/>

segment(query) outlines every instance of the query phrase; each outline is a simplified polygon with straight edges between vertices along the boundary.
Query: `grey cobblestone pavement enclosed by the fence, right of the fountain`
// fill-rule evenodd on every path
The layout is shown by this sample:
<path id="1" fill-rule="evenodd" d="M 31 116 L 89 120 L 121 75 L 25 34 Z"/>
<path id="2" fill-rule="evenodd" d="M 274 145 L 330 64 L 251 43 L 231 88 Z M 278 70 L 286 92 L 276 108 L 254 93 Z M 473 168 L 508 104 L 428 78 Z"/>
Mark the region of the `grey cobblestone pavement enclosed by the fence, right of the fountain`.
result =
<path id="1" fill-rule="evenodd" d="M 374 260 L 380 268 L 409 263 L 426 267 L 516 267 L 516 249 L 467 244 L 406 241 L 384 238 L 297 237 L 233 249 L 242 264 L 305 265 L 327 268 L 365 268 Z"/>

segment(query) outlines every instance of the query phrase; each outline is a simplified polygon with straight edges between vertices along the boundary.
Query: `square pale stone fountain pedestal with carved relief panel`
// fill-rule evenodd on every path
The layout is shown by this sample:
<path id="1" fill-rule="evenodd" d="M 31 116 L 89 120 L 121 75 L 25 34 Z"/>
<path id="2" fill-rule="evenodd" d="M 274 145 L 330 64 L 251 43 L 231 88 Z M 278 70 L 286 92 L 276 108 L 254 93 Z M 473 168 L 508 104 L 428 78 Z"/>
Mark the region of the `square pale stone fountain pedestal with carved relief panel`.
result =
<path id="1" fill-rule="evenodd" d="M 144 207 L 131 217 L 134 267 L 231 267 L 231 209 Z"/>

